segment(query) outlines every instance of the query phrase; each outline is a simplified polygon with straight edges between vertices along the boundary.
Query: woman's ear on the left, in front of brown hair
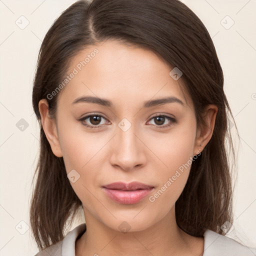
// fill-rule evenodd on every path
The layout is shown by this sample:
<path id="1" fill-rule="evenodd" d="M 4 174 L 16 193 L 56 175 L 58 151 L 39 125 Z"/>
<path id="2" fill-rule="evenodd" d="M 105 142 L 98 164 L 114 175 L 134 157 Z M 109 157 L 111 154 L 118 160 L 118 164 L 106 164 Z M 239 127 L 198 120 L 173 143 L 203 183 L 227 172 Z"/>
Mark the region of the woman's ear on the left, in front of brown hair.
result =
<path id="1" fill-rule="evenodd" d="M 49 116 L 47 100 L 45 98 L 41 99 L 38 103 L 38 107 L 41 115 L 41 125 L 50 144 L 51 150 L 54 155 L 61 157 L 62 152 L 57 135 L 56 120 Z"/>

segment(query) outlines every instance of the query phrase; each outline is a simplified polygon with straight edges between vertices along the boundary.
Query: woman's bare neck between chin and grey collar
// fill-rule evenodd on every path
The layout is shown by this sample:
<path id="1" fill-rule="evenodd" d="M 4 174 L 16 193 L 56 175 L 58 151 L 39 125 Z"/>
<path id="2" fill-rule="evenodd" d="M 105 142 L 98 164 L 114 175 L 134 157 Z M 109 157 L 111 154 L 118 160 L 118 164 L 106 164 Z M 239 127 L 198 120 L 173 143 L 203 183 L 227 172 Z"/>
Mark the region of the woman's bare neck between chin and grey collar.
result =
<path id="1" fill-rule="evenodd" d="M 190 236 L 176 224 L 174 207 L 142 231 L 109 228 L 86 212 L 86 232 L 76 241 L 75 255 L 202 255 L 203 238 Z"/>

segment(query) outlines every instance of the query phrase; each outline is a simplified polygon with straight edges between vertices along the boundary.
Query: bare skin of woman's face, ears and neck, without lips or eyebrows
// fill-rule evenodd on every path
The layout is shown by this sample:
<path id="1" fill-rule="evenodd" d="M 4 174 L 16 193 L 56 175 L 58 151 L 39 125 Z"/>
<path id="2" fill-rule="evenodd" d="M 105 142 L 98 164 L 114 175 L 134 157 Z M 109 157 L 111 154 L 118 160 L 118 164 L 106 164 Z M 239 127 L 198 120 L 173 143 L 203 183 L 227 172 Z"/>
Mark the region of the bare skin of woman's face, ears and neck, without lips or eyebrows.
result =
<path id="1" fill-rule="evenodd" d="M 90 45 L 71 61 L 70 70 L 97 48 L 99 52 L 61 90 L 56 118 L 50 118 L 45 99 L 39 102 L 41 123 L 52 152 L 63 157 L 66 172 L 80 178 L 72 188 L 83 204 L 86 232 L 76 240 L 75 253 L 85 255 L 202 255 L 204 239 L 183 232 L 175 220 L 175 201 L 188 178 L 190 166 L 153 202 L 153 195 L 189 157 L 203 150 L 212 136 L 217 112 L 205 108 L 206 126 L 196 128 L 195 112 L 181 79 L 152 51 L 115 40 Z M 182 77 L 182 76 L 181 76 Z M 111 100 L 113 106 L 72 102 L 80 96 Z M 178 102 L 143 108 L 143 102 L 175 96 Z M 102 115 L 96 122 L 78 119 Z M 159 124 L 154 116 L 165 114 Z M 126 131 L 118 123 L 126 118 Z M 93 120 L 92 120 L 93 121 Z M 99 121 L 98 121 L 99 123 Z M 160 128 L 165 124 L 171 124 Z M 125 124 L 127 125 L 127 124 Z M 154 186 L 149 196 L 135 204 L 120 204 L 107 197 L 102 185 L 139 181 Z M 130 229 L 118 226 L 126 221 Z"/>

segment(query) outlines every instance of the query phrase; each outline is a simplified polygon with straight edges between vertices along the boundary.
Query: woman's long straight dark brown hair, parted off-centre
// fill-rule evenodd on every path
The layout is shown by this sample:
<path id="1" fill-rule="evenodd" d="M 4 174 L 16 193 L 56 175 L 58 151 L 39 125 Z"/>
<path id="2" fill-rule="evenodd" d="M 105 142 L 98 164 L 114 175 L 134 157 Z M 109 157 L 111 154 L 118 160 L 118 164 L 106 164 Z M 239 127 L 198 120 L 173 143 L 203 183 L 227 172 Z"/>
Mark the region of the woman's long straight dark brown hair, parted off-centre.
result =
<path id="1" fill-rule="evenodd" d="M 80 50 L 107 39 L 149 49 L 170 66 L 178 67 L 183 73 L 180 79 L 192 99 L 198 127 L 204 124 L 204 107 L 207 104 L 218 107 L 212 137 L 192 162 L 175 211 L 178 226 L 190 235 L 202 236 L 206 229 L 223 234 L 220 226 L 227 220 L 232 223 L 231 166 L 225 139 L 234 156 L 227 114 L 232 120 L 233 116 L 207 29 L 178 0 L 79 0 L 63 11 L 46 33 L 34 77 L 32 103 L 40 124 L 40 155 L 30 223 L 38 248 L 61 240 L 65 224 L 73 220 L 81 206 L 67 178 L 63 158 L 52 153 L 46 139 L 38 102 L 47 99 L 47 94 L 63 80 L 71 59 Z M 59 93 L 47 99 L 52 116 L 58 96 Z"/>

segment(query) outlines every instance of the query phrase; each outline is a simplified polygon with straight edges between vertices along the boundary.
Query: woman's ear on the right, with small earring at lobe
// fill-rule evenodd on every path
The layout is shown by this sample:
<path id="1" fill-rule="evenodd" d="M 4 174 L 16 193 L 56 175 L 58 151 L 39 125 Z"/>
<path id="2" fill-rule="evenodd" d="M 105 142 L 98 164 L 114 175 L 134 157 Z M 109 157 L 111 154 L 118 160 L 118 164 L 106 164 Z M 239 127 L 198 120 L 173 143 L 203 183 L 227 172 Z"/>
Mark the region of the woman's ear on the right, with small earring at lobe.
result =
<path id="1" fill-rule="evenodd" d="M 217 106 L 213 104 L 209 104 L 205 107 L 203 117 L 206 125 L 200 125 L 200 127 L 197 129 L 194 144 L 194 154 L 201 152 L 209 142 L 213 133 L 217 110 Z"/>

